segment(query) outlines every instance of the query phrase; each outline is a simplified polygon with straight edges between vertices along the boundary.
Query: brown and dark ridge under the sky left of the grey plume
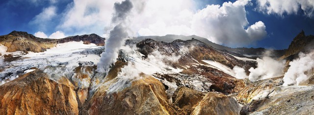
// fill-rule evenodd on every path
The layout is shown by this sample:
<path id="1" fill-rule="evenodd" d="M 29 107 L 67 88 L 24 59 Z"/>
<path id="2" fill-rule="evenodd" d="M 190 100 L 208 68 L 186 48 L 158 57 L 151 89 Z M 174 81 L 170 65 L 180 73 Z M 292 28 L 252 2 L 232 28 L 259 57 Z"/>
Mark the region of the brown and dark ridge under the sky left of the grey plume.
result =
<path id="1" fill-rule="evenodd" d="M 54 47 L 57 43 L 69 41 L 83 41 L 86 44 L 95 43 L 96 45 L 105 45 L 105 38 L 96 34 L 73 36 L 61 39 L 37 38 L 27 32 L 13 31 L 8 35 L 0 36 L 0 44 L 6 46 L 7 52 L 44 52 L 46 49 Z"/>

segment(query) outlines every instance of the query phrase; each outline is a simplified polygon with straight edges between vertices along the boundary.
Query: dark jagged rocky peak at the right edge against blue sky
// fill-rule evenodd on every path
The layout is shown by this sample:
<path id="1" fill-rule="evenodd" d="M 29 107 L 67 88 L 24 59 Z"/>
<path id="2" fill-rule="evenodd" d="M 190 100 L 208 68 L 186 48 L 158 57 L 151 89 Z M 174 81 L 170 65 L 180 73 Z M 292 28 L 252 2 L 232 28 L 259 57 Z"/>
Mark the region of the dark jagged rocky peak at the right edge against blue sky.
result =
<path id="1" fill-rule="evenodd" d="M 314 49 L 314 36 L 309 35 L 305 36 L 304 31 L 302 30 L 293 40 L 291 41 L 287 51 L 281 57 L 281 59 L 293 57 L 299 52 L 307 52 L 310 49 Z"/>

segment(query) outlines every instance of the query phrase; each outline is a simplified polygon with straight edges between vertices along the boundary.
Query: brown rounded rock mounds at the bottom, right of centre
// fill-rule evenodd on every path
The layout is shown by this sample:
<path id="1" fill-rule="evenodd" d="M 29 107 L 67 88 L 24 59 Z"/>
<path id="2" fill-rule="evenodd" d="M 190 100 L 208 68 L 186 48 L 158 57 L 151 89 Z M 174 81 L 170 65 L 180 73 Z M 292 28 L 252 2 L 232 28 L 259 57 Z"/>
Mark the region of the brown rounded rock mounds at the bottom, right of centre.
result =
<path id="1" fill-rule="evenodd" d="M 202 93 L 186 87 L 175 92 L 176 115 L 238 115 L 241 106 L 231 96 L 213 92 Z"/>

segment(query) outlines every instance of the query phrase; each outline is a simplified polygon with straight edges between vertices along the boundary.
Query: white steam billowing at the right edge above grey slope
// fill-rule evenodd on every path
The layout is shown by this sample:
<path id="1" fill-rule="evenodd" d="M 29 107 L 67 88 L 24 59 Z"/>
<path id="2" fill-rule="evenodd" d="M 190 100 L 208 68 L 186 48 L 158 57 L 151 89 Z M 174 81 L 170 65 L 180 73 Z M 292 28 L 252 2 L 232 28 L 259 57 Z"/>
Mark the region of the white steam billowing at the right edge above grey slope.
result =
<path id="1" fill-rule="evenodd" d="M 284 76 L 284 86 L 306 83 L 313 76 L 314 52 L 309 54 L 299 53 L 299 58 L 289 63 L 290 67 Z"/>

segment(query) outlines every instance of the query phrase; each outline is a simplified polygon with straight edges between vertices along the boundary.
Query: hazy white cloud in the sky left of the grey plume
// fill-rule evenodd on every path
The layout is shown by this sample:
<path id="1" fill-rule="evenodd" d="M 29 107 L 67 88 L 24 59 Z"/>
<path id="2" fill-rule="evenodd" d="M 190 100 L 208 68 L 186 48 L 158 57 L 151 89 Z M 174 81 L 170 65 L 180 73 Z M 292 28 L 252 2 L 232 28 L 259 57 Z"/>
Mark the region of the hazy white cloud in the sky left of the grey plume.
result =
<path id="1" fill-rule="evenodd" d="M 103 34 L 110 23 L 116 1 L 122 0 L 74 0 L 64 11 L 57 29 L 72 34 Z"/>

